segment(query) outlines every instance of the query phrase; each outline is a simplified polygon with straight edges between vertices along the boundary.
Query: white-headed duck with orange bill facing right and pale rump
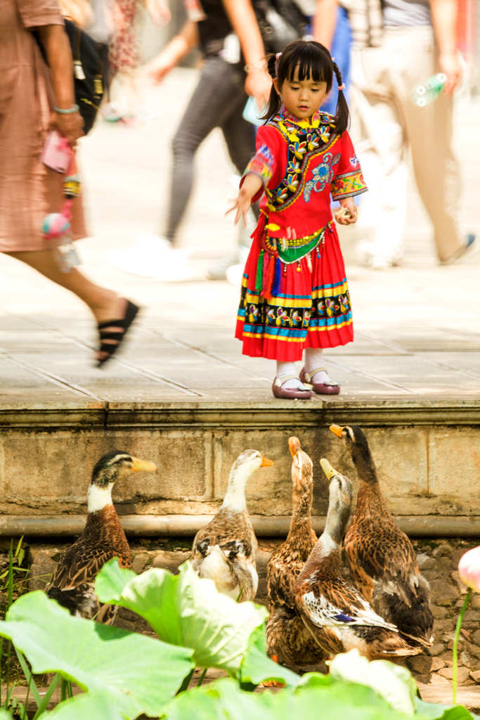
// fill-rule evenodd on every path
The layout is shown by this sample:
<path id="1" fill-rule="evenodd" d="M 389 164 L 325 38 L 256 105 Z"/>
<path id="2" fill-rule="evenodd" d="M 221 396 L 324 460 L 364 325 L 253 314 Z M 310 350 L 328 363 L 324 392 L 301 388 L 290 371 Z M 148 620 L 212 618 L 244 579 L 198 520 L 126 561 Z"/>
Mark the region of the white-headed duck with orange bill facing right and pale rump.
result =
<path id="1" fill-rule="evenodd" d="M 248 515 L 245 485 L 270 460 L 258 450 L 244 450 L 232 465 L 225 498 L 212 520 L 194 537 L 191 565 L 199 577 L 213 580 L 219 593 L 233 600 L 253 600 L 258 589 L 255 554 L 258 542 Z"/>

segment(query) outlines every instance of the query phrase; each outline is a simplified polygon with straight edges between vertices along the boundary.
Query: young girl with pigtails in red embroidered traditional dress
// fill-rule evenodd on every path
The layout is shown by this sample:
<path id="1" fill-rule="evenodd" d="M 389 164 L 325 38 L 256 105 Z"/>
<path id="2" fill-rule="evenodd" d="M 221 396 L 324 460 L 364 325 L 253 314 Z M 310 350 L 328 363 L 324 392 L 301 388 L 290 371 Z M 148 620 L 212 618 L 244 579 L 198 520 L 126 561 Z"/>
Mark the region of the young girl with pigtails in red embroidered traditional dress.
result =
<path id="1" fill-rule="evenodd" d="M 356 222 L 353 196 L 366 191 L 346 130 L 348 106 L 340 71 L 327 48 L 295 40 L 268 61 L 273 77 L 268 122 L 243 174 L 232 210 L 245 221 L 263 192 L 261 217 L 245 265 L 235 337 L 243 354 L 276 360 L 275 397 L 336 395 L 338 383 L 322 368 L 322 348 L 353 340 L 350 297 L 336 220 Z M 335 117 L 319 112 L 338 81 Z M 304 367 L 298 375 L 295 361 Z"/>

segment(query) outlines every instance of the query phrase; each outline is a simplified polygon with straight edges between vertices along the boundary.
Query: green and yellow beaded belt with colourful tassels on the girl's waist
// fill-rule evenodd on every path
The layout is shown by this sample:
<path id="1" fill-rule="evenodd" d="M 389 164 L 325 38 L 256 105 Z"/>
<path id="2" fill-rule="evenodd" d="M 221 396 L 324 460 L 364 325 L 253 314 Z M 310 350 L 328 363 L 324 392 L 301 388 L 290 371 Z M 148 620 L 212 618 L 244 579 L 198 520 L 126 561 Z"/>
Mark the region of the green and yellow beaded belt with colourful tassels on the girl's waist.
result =
<path id="1" fill-rule="evenodd" d="M 300 261 L 305 256 L 309 269 L 312 270 L 310 253 L 325 243 L 325 232 L 332 225 L 332 220 L 327 222 L 325 228 L 316 230 L 312 235 L 305 235 L 303 238 L 272 238 L 268 234 L 268 225 L 258 230 L 263 231 L 261 240 L 262 249 L 258 255 L 257 273 L 255 278 L 255 292 L 263 297 L 276 297 L 279 292 L 281 281 L 281 266 L 296 263 L 296 269 L 301 270 Z M 259 233 L 260 234 L 260 233 Z"/>

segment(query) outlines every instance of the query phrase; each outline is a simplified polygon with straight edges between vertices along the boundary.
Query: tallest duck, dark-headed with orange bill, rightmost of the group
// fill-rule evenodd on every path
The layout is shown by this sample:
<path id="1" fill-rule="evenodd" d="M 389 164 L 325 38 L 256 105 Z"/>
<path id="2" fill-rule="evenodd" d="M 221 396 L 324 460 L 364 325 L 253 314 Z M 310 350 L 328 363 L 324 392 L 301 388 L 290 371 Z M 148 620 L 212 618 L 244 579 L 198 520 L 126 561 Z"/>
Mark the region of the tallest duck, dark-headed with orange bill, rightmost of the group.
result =
<path id="1" fill-rule="evenodd" d="M 403 636 L 430 647 L 430 585 L 420 573 L 411 541 L 397 526 L 381 494 L 366 436 L 357 426 L 332 425 L 330 430 L 350 451 L 360 482 L 344 544 L 353 580 L 363 597 Z"/>

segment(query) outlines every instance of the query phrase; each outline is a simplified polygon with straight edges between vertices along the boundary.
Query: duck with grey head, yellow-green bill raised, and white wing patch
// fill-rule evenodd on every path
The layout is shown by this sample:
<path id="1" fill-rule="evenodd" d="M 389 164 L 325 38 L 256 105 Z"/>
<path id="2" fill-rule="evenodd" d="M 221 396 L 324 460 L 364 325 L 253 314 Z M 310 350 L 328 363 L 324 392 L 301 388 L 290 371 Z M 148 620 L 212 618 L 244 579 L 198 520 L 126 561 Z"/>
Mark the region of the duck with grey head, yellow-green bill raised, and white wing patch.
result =
<path id="1" fill-rule="evenodd" d="M 368 660 L 399 660 L 421 652 L 379 616 L 342 572 L 341 546 L 352 510 L 348 477 L 320 461 L 330 481 L 325 530 L 294 584 L 296 609 L 315 641 L 331 656 L 356 648 Z"/>

